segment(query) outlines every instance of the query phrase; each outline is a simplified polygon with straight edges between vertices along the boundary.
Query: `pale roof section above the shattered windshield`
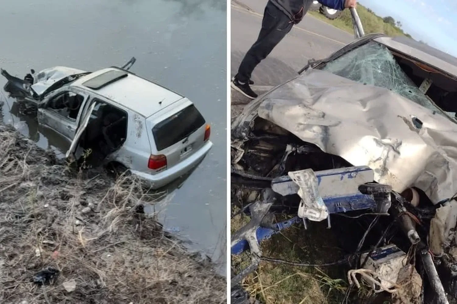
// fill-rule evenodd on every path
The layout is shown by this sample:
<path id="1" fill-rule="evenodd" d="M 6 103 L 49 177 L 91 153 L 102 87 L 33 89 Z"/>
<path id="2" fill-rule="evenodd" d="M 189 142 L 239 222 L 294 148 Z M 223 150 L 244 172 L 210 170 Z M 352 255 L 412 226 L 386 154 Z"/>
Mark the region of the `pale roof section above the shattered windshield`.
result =
<path id="1" fill-rule="evenodd" d="M 374 41 L 457 77 L 457 58 L 406 36 L 378 36 Z"/>

